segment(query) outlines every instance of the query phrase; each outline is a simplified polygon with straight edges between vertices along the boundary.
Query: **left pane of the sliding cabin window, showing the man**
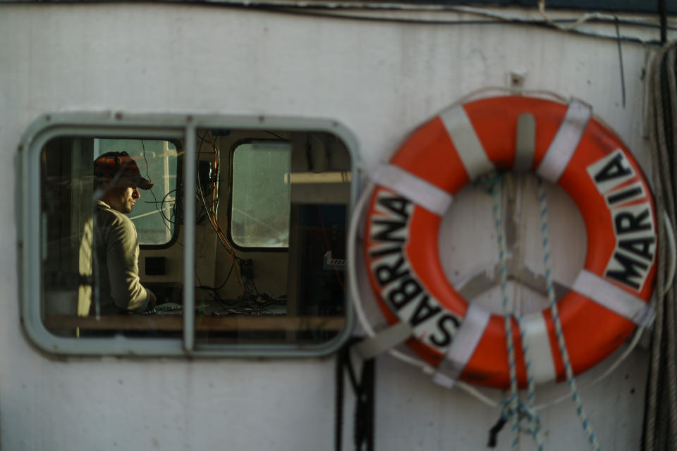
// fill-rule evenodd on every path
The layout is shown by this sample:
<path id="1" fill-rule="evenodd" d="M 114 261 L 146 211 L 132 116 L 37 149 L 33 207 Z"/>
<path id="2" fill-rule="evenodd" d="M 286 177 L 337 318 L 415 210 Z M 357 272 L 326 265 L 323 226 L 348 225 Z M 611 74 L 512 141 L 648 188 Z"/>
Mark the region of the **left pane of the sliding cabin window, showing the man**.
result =
<path id="1" fill-rule="evenodd" d="M 155 202 L 152 194 L 164 193 L 159 200 L 166 202 L 176 192 L 176 160 L 167 140 L 67 136 L 44 145 L 42 315 L 52 333 L 180 336 L 180 319 L 154 321 L 158 299 L 178 297 L 147 276 L 153 268 L 145 267 L 139 248 L 144 237 L 153 244 L 171 240 L 173 223 L 163 217 L 171 217 L 170 204 Z M 152 187 L 143 186 L 144 179 Z M 182 263 L 176 261 L 173 280 L 181 280 Z M 170 276 L 166 268 L 160 272 Z"/>

